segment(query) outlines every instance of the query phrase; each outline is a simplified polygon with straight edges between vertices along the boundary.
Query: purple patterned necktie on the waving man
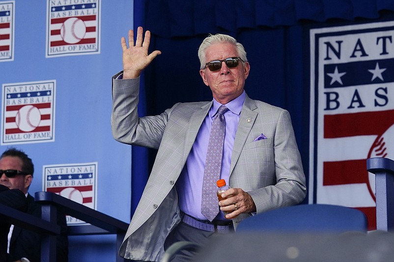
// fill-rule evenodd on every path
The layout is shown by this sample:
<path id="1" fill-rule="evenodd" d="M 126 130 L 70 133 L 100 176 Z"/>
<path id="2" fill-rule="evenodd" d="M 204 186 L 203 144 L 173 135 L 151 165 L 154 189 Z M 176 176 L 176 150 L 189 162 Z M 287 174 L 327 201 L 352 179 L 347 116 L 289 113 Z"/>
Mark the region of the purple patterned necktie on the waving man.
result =
<path id="1" fill-rule="evenodd" d="M 225 105 L 219 107 L 209 135 L 201 199 L 201 213 L 209 221 L 212 221 L 219 213 L 216 181 L 220 179 L 222 169 L 223 145 L 225 142 L 225 116 L 223 114 L 227 110 L 228 108 Z"/>

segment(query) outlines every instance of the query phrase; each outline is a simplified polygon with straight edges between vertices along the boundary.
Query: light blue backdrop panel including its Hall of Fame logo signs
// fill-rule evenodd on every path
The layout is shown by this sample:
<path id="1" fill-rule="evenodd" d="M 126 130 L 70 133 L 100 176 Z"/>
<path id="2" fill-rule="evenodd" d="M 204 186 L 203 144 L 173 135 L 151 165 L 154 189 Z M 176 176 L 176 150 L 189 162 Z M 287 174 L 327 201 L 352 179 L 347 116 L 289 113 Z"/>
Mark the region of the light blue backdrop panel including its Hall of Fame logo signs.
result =
<path id="1" fill-rule="evenodd" d="M 120 38 L 130 28 L 132 0 L 0 1 L 0 151 L 16 147 L 32 158 L 32 195 L 48 183 L 43 167 L 46 178 L 67 175 L 58 179 L 65 184 L 79 175 L 67 167 L 94 163 L 83 201 L 127 223 L 131 147 L 112 136 L 111 77 L 122 69 Z M 114 261 L 117 253 L 115 236 L 69 240 L 70 261 Z"/>

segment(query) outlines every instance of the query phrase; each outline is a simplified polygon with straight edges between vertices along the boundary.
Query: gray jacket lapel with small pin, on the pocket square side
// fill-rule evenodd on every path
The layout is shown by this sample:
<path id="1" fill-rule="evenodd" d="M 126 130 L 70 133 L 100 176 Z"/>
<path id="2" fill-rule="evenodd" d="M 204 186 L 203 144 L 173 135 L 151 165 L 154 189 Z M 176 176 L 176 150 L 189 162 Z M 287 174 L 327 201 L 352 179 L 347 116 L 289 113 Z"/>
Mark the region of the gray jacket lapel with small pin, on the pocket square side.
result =
<path id="1" fill-rule="evenodd" d="M 239 156 L 241 155 L 241 151 L 245 145 L 246 139 L 252 130 L 254 121 L 256 120 L 258 113 L 253 111 L 256 108 L 256 103 L 250 99 L 248 95 L 246 95 L 244 105 L 242 106 L 241 115 L 239 117 L 237 133 L 235 134 L 234 147 L 231 155 L 230 176 Z"/>

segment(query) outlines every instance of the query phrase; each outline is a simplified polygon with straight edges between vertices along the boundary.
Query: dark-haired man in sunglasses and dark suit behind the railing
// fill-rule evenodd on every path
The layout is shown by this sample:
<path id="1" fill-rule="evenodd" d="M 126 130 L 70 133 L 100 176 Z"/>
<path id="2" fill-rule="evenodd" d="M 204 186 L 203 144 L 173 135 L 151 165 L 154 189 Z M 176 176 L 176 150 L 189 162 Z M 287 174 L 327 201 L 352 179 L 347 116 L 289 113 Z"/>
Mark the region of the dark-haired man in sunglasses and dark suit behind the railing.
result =
<path id="1" fill-rule="evenodd" d="M 27 201 L 28 214 L 41 218 L 41 206 L 28 193 L 33 180 L 34 165 L 31 158 L 23 151 L 10 148 L 0 156 L 0 185 L 11 190 L 19 189 Z M 56 236 L 56 261 L 68 261 L 68 239 L 65 215 L 58 210 L 57 223 L 61 227 L 61 234 Z M 13 226 L 9 229 L 8 253 L 6 262 L 40 262 L 40 235 L 29 230 Z M 0 240 L 1 242 L 2 240 Z"/>

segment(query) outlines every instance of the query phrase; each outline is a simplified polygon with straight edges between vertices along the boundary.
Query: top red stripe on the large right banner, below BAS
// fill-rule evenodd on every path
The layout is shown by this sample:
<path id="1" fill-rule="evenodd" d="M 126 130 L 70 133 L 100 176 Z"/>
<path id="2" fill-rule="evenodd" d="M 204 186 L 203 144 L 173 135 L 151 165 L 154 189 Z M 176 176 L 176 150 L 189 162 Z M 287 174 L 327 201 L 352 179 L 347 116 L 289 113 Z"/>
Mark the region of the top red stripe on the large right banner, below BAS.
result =
<path id="1" fill-rule="evenodd" d="M 394 110 L 325 115 L 324 138 L 381 134 L 394 124 Z"/>

